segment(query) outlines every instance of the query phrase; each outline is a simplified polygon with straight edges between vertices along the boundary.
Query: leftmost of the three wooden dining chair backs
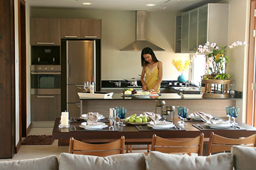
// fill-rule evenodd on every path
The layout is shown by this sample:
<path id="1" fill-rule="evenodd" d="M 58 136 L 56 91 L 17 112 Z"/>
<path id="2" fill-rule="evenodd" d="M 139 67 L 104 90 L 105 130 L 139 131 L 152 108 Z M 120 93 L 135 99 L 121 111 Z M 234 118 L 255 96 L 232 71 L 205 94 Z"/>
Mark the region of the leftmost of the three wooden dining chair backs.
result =
<path id="1" fill-rule="evenodd" d="M 109 156 L 113 154 L 124 154 L 125 138 L 122 136 L 116 141 L 103 144 L 91 144 L 78 141 L 74 137 L 70 137 L 70 154 L 85 154 L 94 156 Z"/>

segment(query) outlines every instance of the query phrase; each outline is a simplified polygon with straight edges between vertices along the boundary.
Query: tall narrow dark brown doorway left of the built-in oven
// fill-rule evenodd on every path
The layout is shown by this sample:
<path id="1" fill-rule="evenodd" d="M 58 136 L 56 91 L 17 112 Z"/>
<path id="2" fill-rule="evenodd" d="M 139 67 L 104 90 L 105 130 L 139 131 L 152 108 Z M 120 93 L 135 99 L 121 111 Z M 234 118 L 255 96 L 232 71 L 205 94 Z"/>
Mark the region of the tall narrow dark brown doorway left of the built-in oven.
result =
<path id="1" fill-rule="evenodd" d="M 26 67 L 26 9 L 25 1 L 18 0 L 18 71 L 19 71 L 19 101 L 20 101 L 20 141 L 27 137 L 27 67 Z"/>

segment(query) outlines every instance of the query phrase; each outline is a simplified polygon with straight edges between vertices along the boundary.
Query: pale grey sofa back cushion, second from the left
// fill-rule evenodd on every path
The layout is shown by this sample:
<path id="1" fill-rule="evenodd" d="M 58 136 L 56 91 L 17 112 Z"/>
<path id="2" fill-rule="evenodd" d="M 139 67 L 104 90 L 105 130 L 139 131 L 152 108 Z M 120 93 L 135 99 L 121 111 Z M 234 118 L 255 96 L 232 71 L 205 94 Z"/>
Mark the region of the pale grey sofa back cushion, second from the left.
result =
<path id="1" fill-rule="evenodd" d="M 143 153 L 115 154 L 105 157 L 62 153 L 59 156 L 59 169 L 145 170 L 146 164 Z"/>

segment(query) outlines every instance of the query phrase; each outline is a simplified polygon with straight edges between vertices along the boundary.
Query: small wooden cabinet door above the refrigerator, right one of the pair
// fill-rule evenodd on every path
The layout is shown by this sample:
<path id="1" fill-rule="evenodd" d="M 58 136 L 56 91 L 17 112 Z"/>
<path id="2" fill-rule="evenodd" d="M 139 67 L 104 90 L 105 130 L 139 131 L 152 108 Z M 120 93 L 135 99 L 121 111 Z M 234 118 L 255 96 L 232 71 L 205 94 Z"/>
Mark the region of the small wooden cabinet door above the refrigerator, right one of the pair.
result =
<path id="1" fill-rule="evenodd" d="M 101 20 L 82 19 L 81 35 L 86 39 L 101 38 Z"/>

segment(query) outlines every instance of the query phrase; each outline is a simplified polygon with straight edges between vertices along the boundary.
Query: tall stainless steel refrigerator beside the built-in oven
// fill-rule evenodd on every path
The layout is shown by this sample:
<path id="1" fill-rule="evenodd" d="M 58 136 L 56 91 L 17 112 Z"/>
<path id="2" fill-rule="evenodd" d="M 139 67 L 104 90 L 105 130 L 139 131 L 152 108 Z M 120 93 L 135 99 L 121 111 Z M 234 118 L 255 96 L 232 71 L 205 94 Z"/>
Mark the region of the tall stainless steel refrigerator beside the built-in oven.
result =
<path id="1" fill-rule="evenodd" d="M 96 80 L 96 41 L 67 41 L 67 110 L 70 117 L 80 116 L 80 100 L 77 92 L 85 91 L 84 82 Z M 97 84 L 96 84 L 97 86 Z"/>

